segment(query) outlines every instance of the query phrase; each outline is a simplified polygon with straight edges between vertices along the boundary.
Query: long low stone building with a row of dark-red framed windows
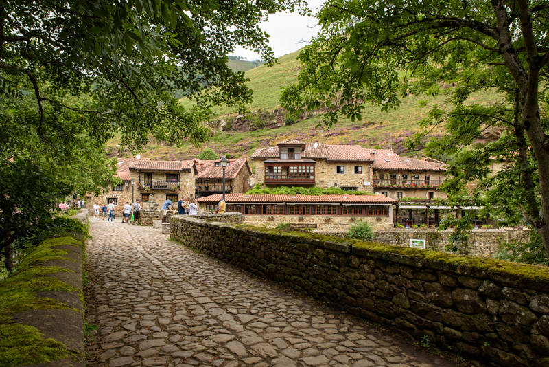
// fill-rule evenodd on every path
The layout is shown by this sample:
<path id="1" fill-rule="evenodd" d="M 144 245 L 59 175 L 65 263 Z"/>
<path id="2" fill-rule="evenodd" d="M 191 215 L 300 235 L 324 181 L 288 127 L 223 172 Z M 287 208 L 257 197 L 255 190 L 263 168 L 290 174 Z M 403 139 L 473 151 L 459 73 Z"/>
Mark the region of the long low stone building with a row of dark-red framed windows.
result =
<path id="1" fill-rule="evenodd" d="M 221 195 L 197 199 L 200 210 L 215 210 Z M 344 232 L 355 221 L 371 222 L 376 229 L 393 228 L 393 204 L 383 195 L 246 195 L 226 194 L 226 212 L 244 214 L 244 223 L 276 227 L 314 228 L 317 232 Z"/>

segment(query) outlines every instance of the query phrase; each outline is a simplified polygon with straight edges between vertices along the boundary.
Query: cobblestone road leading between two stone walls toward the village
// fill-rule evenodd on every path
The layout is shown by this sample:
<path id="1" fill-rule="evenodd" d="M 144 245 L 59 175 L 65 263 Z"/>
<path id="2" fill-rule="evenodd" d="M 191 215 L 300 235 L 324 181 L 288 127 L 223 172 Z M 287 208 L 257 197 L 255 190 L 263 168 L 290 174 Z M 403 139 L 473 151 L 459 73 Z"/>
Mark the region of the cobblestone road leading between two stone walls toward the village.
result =
<path id="1" fill-rule="evenodd" d="M 152 227 L 91 235 L 88 366 L 454 366 Z"/>

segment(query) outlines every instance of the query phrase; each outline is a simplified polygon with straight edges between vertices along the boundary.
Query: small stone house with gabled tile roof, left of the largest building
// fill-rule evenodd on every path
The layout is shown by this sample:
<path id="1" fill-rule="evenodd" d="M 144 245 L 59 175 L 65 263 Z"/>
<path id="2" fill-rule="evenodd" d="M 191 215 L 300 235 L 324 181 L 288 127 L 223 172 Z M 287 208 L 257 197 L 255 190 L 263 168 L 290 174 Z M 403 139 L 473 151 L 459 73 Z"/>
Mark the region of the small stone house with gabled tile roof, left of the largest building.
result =
<path id="1" fill-rule="evenodd" d="M 227 159 L 229 166 L 225 167 L 225 193 L 247 192 L 250 190 L 250 175 L 252 171 L 246 158 Z M 223 192 L 223 168 L 220 161 L 204 161 L 194 159 L 198 174 L 196 175 L 196 197 L 205 197 Z"/>

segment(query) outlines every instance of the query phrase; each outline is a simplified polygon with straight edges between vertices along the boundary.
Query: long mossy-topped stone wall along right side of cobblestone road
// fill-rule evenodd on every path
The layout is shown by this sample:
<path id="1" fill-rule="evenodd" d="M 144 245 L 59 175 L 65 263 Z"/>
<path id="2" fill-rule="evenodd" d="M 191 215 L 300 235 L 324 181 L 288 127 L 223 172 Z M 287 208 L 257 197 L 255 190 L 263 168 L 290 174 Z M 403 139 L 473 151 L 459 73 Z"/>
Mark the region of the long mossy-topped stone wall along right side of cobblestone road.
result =
<path id="1" fill-rule="evenodd" d="M 443 351 L 549 366 L 544 267 L 172 218 L 171 238 Z"/>

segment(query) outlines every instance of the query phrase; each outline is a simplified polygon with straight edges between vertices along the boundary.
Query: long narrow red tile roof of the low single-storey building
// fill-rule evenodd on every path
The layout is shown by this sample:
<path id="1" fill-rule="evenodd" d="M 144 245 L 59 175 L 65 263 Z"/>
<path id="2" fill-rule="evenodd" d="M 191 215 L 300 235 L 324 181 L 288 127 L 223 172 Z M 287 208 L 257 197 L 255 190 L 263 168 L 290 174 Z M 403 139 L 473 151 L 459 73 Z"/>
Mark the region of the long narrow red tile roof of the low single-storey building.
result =
<path id="1" fill-rule="evenodd" d="M 200 203 L 218 203 L 221 194 L 200 197 Z M 393 204 L 397 200 L 384 195 L 246 195 L 225 194 L 226 203 L 372 203 Z"/>

